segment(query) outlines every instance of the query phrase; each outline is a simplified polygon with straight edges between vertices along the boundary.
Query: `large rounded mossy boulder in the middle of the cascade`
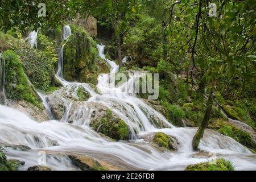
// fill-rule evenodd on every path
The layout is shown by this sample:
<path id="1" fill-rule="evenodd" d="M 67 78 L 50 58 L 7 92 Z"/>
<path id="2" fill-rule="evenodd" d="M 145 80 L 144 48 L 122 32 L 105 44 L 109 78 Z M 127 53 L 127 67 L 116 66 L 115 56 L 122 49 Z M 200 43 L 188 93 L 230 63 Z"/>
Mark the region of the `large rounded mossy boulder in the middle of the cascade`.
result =
<path id="1" fill-rule="evenodd" d="M 90 126 L 94 131 L 102 133 L 114 140 L 129 139 L 129 127 L 122 119 L 118 118 L 111 110 L 98 110 L 100 113 L 93 113 Z"/>

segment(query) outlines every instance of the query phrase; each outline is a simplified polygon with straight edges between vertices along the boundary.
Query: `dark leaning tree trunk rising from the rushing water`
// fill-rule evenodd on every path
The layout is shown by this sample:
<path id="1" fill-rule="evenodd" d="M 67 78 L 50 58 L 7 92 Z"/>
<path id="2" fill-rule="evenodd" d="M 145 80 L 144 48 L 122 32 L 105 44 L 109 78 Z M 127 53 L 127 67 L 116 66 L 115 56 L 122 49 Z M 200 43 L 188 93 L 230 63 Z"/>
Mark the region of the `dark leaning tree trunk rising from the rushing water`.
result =
<path id="1" fill-rule="evenodd" d="M 197 130 L 195 137 L 193 138 L 193 142 L 192 142 L 193 150 L 198 150 L 200 140 L 204 136 L 204 130 L 207 128 L 209 124 L 210 113 L 212 113 L 212 105 L 213 105 L 213 93 L 211 92 L 207 101 L 207 109 L 205 110 L 204 119 L 201 123 L 201 126 Z"/>

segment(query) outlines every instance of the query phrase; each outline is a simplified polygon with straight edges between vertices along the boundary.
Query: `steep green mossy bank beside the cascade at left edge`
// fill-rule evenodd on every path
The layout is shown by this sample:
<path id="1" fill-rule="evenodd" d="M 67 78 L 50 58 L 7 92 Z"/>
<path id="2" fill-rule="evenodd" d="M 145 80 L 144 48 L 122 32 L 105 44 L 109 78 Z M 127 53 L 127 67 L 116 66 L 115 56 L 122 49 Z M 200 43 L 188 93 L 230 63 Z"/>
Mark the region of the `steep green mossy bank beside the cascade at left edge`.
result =
<path id="1" fill-rule="evenodd" d="M 25 100 L 35 106 L 41 107 L 41 100 L 34 88 L 28 83 L 18 55 L 13 51 L 5 51 L 2 57 L 6 61 L 6 97 L 13 100 Z"/>

